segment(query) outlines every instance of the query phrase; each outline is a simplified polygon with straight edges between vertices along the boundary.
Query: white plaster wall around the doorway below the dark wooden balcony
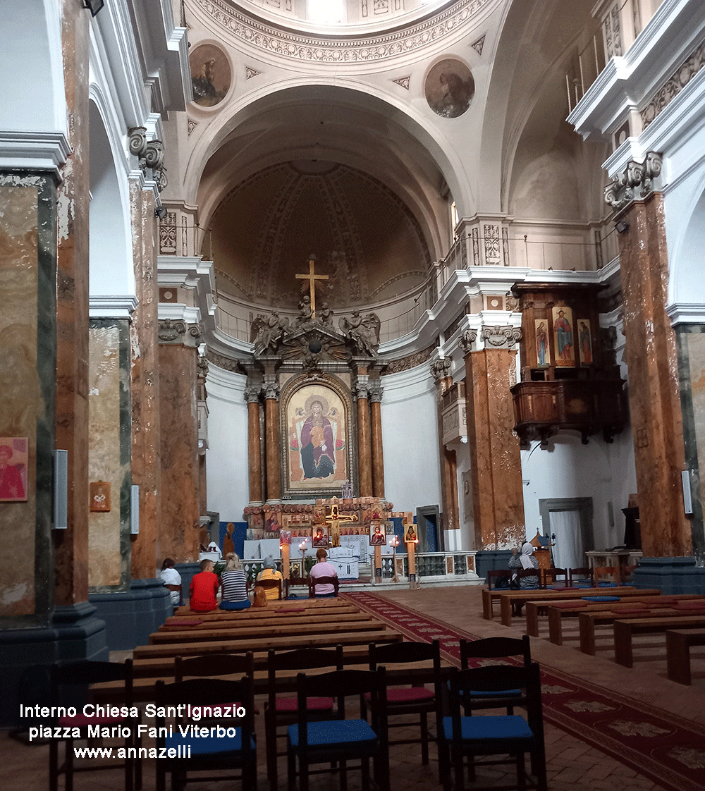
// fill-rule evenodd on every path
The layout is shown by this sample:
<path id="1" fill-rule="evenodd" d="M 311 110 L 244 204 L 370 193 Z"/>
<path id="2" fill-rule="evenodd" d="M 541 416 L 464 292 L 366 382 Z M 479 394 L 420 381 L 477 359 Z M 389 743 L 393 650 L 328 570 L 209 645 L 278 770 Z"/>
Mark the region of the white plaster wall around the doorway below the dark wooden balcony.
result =
<path id="1" fill-rule="evenodd" d="M 577 434 L 562 432 L 541 450 L 533 442 L 521 452 L 524 481 L 526 537 L 543 534 L 539 501 L 557 498 L 592 498 L 594 548 L 615 547 L 624 540 L 624 514 L 629 495 L 636 492 L 634 445 L 625 430 L 612 444 L 590 437 L 582 445 Z M 609 524 L 612 502 L 614 524 Z"/>

